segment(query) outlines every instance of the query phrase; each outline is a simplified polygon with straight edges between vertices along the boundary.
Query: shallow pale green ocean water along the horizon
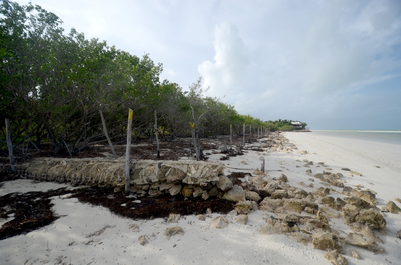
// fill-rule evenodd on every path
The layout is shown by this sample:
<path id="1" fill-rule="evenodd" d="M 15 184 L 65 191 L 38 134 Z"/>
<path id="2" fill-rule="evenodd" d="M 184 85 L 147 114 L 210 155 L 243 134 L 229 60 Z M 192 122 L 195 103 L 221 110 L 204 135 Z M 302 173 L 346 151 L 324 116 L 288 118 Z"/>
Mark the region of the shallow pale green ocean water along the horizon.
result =
<path id="1" fill-rule="evenodd" d="M 401 145 L 401 130 L 313 130 L 312 134 Z"/>

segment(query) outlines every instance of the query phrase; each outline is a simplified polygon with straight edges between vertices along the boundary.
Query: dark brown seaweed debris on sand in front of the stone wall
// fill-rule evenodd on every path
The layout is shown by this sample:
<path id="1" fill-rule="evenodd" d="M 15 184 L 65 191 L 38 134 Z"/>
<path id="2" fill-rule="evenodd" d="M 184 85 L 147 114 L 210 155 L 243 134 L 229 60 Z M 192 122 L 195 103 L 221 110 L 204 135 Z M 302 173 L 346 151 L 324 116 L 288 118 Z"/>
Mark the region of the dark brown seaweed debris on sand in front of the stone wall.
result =
<path id="1" fill-rule="evenodd" d="M 213 212 L 228 213 L 234 209 L 234 203 L 217 198 L 203 200 L 201 197 L 188 198 L 184 196 L 163 194 L 158 197 L 138 195 L 140 203 L 134 203 L 135 197 L 126 197 L 123 193 L 114 193 L 113 188 L 97 187 L 68 190 L 66 188 L 36 191 L 28 193 L 10 193 L 0 197 L 0 218 L 8 218 L 14 214 L 14 219 L 0 228 L 0 240 L 14 235 L 26 234 L 51 224 L 61 216 L 52 211 L 53 203 L 50 197 L 71 193 L 67 199 L 77 198 L 81 203 L 93 206 L 101 205 L 115 215 L 132 219 L 153 219 L 168 217 L 170 213 L 181 215 L 205 213 L 208 208 Z M 126 206 L 121 206 L 126 203 Z"/>

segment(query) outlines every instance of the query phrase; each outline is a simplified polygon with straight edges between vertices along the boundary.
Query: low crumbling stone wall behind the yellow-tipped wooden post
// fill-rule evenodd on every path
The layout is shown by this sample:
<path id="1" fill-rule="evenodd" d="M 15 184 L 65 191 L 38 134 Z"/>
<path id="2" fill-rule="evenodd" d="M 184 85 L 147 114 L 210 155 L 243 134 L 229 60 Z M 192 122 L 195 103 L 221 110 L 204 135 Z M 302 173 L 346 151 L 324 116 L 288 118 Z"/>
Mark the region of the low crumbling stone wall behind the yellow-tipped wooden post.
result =
<path id="1" fill-rule="evenodd" d="M 25 176 L 42 181 L 69 181 L 74 186 L 114 187 L 118 191 L 124 188 L 124 166 L 123 159 L 40 158 L 28 164 Z M 227 179 L 224 169 L 223 163 L 210 161 L 138 161 L 131 163 L 131 191 L 150 195 L 184 192 L 207 199 L 221 192 L 216 185 L 222 177 Z"/>

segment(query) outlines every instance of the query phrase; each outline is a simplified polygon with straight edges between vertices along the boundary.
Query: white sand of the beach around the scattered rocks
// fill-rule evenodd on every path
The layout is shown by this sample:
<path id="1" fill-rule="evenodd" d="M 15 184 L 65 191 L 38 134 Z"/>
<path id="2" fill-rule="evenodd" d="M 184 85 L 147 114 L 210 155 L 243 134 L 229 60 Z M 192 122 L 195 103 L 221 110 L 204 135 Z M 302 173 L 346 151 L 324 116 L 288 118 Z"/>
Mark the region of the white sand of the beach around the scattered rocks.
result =
<path id="1" fill-rule="evenodd" d="M 346 185 L 363 184 L 376 191 L 378 207 L 385 205 L 387 200 L 401 197 L 399 170 L 387 166 L 375 158 L 352 151 L 344 146 L 349 139 L 338 139 L 330 142 L 326 137 L 311 137 L 307 133 L 287 133 L 286 137 L 294 141 L 299 150 L 307 150 L 318 155 L 299 155 L 296 152 L 270 153 L 264 156 L 266 170 L 283 170 L 288 176 L 289 184 L 300 187 L 298 183 L 310 183 L 310 176 L 305 174 L 306 168 L 297 168 L 304 163 L 296 159 L 308 159 L 324 162 L 332 172 L 340 171 L 342 167 L 349 167 L 363 174 L 362 177 L 346 178 Z M 323 139 L 324 138 L 324 139 Z M 334 137 L 332 137 L 334 138 Z M 335 143 L 335 144 L 334 144 Z M 222 155 L 211 155 L 211 159 L 218 160 Z M 229 171 L 252 172 L 260 168 L 261 161 L 257 160 L 258 152 L 249 151 L 241 157 L 233 157 L 223 161 L 227 165 L 226 175 Z M 240 162 L 246 160 L 248 165 Z M 381 168 L 373 167 L 378 165 Z M 250 169 L 238 170 L 241 168 Z M 287 170 L 288 169 L 288 170 Z M 323 168 L 311 167 L 314 173 L 321 173 Z M 278 177 L 282 172 L 271 171 L 271 177 Z M 372 182 L 375 185 L 369 185 Z M 3 183 L 0 195 L 10 192 L 27 192 L 33 190 L 55 189 L 64 187 L 56 183 L 39 183 L 30 180 L 17 180 Z M 320 185 L 314 181 L 315 189 Z M 338 191 L 342 189 L 336 188 Z M 304 188 L 312 191 L 312 188 Z M 67 196 L 67 195 L 65 195 Z M 65 197 L 63 196 L 63 197 Z M 331 195 L 344 197 L 343 195 Z M 152 221 L 132 221 L 112 215 L 107 209 L 77 202 L 77 199 L 53 198 L 54 210 L 59 215 L 66 215 L 57 219 L 53 224 L 42 227 L 36 231 L 10 237 L 0 241 L 0 264 L 330 264 L 323 255 L 325 251 L 312 249 L 289 239 L 286 235 L 261 235 L 260 225 L 264 223 L 261 214 L 263 211 L 249 213 L 247 225 L 230 223 L 225 229 L 210 227 L 211 218 L 198 221 L 193 215 L 185 216 L 178 223 L 167 224 L 164 219 Z M 399 205 L 397 203 L 397 205 Z M 399 205 L 400 206 L 400 205 Z M 356 247 L 346 246 L 348 264 L 400 264 L 401 240 L 395 237 L 397 230 L 401 229 L 401 215 L 386 214 L 388 235 L 377 234 L 383 241 L 381 245 L 386 253 L 374 255 L 372 252 Z M 213 218 L 217 217 L 213 213 Z M 229 218 L 229 221 L 232 219 Z M 140 231 L 129 229 L 131 224 L 137 224 Z M 90 233 L 99 231 L 106 225 L 99 236 L 87 237 Z M 172 239 L 165 239 L 163 233 L 167 227 L 180 226 L 184 235 L 175 235 Z M 340 219 L 331 219 L 330 225 L 345 232 L 350 232 Z M 147 235 L 149 243 L 141 246 L 138 236 Z M 93 240 L 93 242 L 88 241 Z M 101 243 L 103 242 L 103 243 Z M 101 243 L 101 244 L 99 244 Z M 176 245 L 174 247 L 174 245 Z M 356 249 L 363 260 L 356 260 L 350 256 L 347 249 Z M 59 258 L 59 259 L 58 259 Z M 387 259 L 387 260 L 386 260 Z M 27 262 L 26 262 L 27 261 Z M 59 263 L 59 261 L 61 261 Z"/>

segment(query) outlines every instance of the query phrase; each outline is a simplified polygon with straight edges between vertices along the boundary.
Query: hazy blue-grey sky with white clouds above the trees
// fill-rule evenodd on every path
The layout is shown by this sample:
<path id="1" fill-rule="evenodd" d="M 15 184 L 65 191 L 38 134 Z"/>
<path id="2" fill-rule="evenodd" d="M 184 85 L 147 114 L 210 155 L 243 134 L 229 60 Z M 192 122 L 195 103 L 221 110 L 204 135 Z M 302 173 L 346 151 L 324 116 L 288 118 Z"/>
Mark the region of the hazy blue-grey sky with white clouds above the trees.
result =
<path id="1" fill-rule="evenodd" d="M 401 129 L 400 0 L 31 0 L 261 120 Z M 28 1 L 18 0 L 20 4 Z"/>

